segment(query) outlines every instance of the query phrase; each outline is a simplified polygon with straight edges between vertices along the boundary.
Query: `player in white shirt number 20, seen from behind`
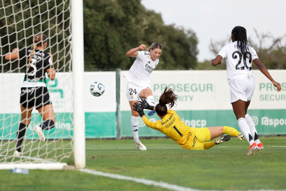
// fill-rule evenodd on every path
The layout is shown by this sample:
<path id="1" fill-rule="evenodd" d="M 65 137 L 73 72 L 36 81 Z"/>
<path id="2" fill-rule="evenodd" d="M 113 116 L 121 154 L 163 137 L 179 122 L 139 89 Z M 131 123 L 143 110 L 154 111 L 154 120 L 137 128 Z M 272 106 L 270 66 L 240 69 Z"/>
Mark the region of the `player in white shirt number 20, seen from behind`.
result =
<path id="1" fill-rule="evenodd" d="M 225 58 L 232 108 L 240 131 L 250 145 L 247 155 L 253 155 L 256 151 L 263 149 L 263 144 L 257 136 L 252 118 L 247 114 L 254 92 L 252 62 L 273 83 L 277 91 L 281 91 L 281 85 L 272 79 L 266 67 L 258 59 L 256 51 L 248 45 L 244 27 L 234 27 L 231 39 L 232 43 L 222 47 L 216 58 L 213 59 L 212 65 L 221 64 L 221 60 Z"/>

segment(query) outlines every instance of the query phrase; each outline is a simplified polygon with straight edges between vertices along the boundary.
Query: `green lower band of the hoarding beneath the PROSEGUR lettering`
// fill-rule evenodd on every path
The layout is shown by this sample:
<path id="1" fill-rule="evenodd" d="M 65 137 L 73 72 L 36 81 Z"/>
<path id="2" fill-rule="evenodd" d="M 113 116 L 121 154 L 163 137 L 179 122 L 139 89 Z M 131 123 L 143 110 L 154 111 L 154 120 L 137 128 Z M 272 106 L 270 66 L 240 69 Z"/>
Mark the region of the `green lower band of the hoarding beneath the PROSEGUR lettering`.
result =
<path id="1" fill-rule="evenodd" d="M 207 110 L 207 111 L 176 111 L 185 125 L 189 127 L 230 126 L 239 131 L 236 117 L 232 110 Z M 145 112 L 147 114 L 147 111 Z M 276 110 L 249 110 L 257 133 L 259 135 L 286 134 L 286 109 Z M 155 114 L 147 116 L 150 121 L 160 118 Z M 121 136 L 133 136 L 130 125 L 131 111 L 121 112 Z M 139 118 L 139 136 L 165 136 L 163 133 L 147 127 Z"/>

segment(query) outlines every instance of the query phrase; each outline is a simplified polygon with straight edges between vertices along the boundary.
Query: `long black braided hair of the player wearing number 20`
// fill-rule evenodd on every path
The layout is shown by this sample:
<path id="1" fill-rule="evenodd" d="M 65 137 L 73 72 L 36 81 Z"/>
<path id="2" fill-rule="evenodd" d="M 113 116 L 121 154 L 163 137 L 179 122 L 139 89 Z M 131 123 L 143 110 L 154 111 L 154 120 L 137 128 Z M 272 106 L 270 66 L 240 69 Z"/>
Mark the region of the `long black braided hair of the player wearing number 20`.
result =
<path id="1" fill-rule="evenodd" d="M 232 29 L 231 34 L 237 42 L 237 49 L 242 53 L 242 55 L 249 58 L 246 52 L 249 52 L 249 45 L 246 36 L 246 29 L 242 26 L 236 26 Z"/>

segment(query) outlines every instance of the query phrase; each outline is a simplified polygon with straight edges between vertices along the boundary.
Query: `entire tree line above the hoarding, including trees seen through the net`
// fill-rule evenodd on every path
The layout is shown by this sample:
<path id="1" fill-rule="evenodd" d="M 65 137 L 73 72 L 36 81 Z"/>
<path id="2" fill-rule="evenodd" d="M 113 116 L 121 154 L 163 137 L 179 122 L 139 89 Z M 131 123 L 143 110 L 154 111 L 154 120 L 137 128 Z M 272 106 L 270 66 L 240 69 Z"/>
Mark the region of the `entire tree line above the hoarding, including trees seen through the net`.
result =
<path id="1" fill-rule="evenodd" d="M 46 51 L 54 55 L 56 69 L 68 70 L 71 58 L 70 1 L 55 0 L 39 6 L 37 0 L 30 0 L 30 4 L 18 2 L 10 5 L 10 0 L 3 0 L 0 9 L 2 70 L 17 72 L 24 67 L 23 62 L 9 64 L 3 59 L 4 55 L 16 47 L 30 47 L 32 35 L 40 31 L 49 38 Z M 126 52 L 140 44 L 149 47 L 154 42 L 161 43 L 163 47 L 157 70 L 226 68 L 225 64 L 213 67 L 211 60 L 199 63 L 196 33 L 192 29 L 165 25 L 161 14 L 145 9 L 141 0 L 84 0 L 83 6 L 86 71 L 129 69 L 134 58 L 127 57 Z M 253 43 L 252 39 L 249 43 L 256 49 L 260 60 L 269 69 L 286 69 L 283 38 L 256 34 L 260 43 Z M 267 39 L 273 41 L 268 47 L 264 46 Z M 210 50 L 216 55 L 229 41 L 211 41 Z"/>

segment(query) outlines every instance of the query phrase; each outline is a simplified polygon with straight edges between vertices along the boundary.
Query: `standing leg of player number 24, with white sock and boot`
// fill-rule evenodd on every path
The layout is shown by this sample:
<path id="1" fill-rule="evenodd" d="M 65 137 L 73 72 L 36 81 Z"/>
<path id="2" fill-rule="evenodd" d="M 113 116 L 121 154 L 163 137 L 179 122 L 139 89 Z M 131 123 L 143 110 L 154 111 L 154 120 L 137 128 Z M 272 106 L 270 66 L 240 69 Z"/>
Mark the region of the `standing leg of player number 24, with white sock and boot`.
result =
<path id="1" fill-rule="evenodd" d="M 139 140 L 138 132 L 139 132 L 139 114 L 138 112 L 133 110 L 133 105 L 135 102 L 138 102 L 137 100 L 134 101 L 129 101 L 131 111 L 132 111 L 132 116 L 131 116 L 131 128 L 132 128 L 132 134 L 133 134 L 133 139 L 135 142 L 135 146 L 139 148 L 141 151 L 147 150 L 144 144 L 142 144 Z"/>

